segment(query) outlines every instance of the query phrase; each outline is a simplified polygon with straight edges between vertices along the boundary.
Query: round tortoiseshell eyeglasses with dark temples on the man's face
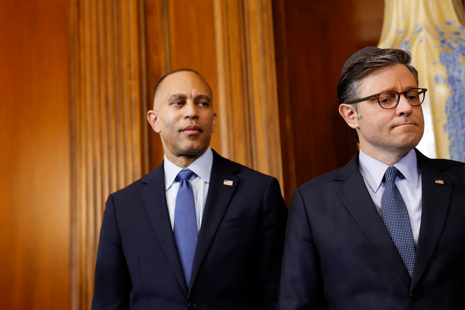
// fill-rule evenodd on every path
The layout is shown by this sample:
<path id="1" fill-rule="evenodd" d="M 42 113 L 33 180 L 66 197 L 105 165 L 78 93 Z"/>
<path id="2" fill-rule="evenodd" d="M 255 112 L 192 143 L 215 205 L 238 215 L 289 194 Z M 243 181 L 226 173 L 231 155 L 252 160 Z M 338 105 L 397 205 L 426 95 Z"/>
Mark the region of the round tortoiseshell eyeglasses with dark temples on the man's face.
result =
<path id="1" fill-rule="evenodd" d="M 412 107 L 417 107 L 423 103 L 423 100 L 425 100 L 426 91 L 427 91 L 426 88 L 412 88 L 405 92 L 400 92 L 400 93 L 394 90 L 388 90 L 386 92 L 374 94 L 374 95 L 371 95 L 365 98 L 351 101 L 350 104 L 365 101 L 371 98 L 376 98 L 378 99 L 378 103 L 381 108 L 393 109 L 397 107 L 397 105 L 399 104 L 400 94 L 404 94 L 404 97 L 405 99 L 407 99 L 408 103 Z"/>

